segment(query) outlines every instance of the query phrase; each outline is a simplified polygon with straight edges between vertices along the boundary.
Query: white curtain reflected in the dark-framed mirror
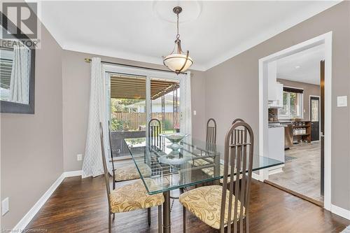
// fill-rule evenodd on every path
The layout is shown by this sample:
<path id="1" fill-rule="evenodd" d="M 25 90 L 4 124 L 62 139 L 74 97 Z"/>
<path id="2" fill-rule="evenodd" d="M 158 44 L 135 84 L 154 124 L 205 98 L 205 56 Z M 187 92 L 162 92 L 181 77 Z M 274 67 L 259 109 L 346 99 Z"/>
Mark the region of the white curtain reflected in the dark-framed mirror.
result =
<path id="1" fill-rule="evenodd" d="M 25 46 L 13 45 L 13 64 L 10 79 L 10 101 L 29 103 L 30 50 Z"/>

